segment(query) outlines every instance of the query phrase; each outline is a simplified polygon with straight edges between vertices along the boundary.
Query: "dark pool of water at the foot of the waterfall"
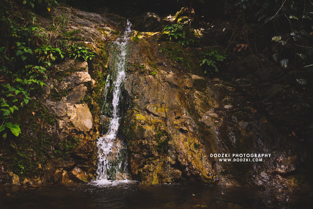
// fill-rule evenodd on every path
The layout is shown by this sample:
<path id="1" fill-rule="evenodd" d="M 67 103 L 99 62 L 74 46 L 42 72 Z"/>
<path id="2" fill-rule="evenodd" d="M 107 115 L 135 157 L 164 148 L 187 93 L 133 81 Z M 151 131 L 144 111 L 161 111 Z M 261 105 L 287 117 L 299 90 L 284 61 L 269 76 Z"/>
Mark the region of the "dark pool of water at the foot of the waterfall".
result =
<path id="1" fill-rule="evenodd" d="M 205 185 L 0 186 L 0 208 L 312 208 L 313 192 Z"/>

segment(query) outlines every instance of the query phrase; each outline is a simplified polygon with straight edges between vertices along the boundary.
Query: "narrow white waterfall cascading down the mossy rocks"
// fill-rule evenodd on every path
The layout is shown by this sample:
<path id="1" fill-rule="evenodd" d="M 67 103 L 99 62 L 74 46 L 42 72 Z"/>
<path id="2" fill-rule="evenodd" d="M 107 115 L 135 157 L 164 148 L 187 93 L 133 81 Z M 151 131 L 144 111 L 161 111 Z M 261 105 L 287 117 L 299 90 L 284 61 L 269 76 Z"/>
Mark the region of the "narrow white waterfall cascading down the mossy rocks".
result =
<path id="1" fill-rule="evenodd" d="M 127 20 L 125 33 L 121 38 L 117 38 L 114 43 L 114 52 L 111 59 L 111 79 L 116 79 L 111 88 L 113 88 L 112 99 L 112 116 L 110 120 L 109 130 L 106 135 L 100 137 L 98 145 L 98 170 L 97 184 L 105 184 L 110 180 L 126 180 L 127 179 L 127 155 L 126 145 L 117 138 L 120 115 L 119 100 L 121 94 L 121 85 L 125 79 L 125 63 L 127 54 L 127 43 L 131 32 L 131 23 Z"/>

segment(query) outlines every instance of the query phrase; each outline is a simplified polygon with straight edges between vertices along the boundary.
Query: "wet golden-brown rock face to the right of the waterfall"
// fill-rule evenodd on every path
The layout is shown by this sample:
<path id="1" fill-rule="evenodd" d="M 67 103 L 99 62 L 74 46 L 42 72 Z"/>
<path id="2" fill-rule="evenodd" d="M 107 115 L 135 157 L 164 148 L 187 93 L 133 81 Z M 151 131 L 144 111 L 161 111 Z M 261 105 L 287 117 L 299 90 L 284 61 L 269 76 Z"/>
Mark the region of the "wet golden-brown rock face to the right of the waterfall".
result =
<path id="1" fill-rule="evenodd" d="M 166 48 L 155 42 L 160 33 L 145 34 L 131 45 L 125 88 L 132 105 L 120 127 L 128 143 L 132 177 L 149 184 L 297 187 L 284 175 L 303 162 L 298 153 L 304 147 L 285 134 L 287 127 L 278 127 L 270 115 L 257 112 L 256 104 L 241 96 L 242 87 L 260 79 L 249 75 L 232 84 L 188 73 L 197 69 L 185 68 L 186 62 L 174 62 L 159 51 Z M 178 44 L 172 46 L 166 49 L 180 49 Z M 265 99 L 269 106 L 281 91 L 281 85 L 271 87 Z M 230 154 L 231 160 L 236 158 L 232 154 L 268 155 L 260 157 L 262 161 L 227 162 L 211 156 L 218 153 Z"/>

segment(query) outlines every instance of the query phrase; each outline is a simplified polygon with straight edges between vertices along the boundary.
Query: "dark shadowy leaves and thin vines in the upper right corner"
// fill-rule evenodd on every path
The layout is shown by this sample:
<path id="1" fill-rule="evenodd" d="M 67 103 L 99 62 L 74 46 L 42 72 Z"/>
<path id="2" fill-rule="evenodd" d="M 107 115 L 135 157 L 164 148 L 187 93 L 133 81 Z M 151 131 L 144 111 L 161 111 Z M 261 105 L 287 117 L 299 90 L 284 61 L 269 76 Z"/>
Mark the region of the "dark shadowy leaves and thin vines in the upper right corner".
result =
<path id="1" fill-rule="evenodd" d="M 256 34 L 259 33 L 256 32 L 257 29 L 261 27 L 268 30 L 267 35 L 272 45 L 277 46 L 275 47 L 277 50 L 271 54 L 275 62 L 283 68 L 310 66 L 312 62 L 310 33 L 313 18 L 313 5 L 310 1 L 237 0 L 237 2 L 236 6 L 241 7 L 239 20 L 243 21 L 248 31 Z M 251 30 L 247 26 L 248 21 L 259 22 L 259 28 Z M 272 29 L 271 33 L 269 29 Z M 238 31 L 247 30 L 238 28 Z"/>

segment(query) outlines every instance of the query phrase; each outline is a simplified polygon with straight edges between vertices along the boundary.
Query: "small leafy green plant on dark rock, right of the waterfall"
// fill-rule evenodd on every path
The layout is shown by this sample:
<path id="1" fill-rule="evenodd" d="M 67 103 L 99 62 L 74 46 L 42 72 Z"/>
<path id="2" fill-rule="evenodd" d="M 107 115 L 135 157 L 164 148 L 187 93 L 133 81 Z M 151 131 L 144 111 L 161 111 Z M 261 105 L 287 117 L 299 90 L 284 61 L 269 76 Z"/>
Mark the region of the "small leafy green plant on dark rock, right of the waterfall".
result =
<path id="1" fill-rule="evenodd" d="M 200 66 L 202 66 L 203 64 L 206 66 L 206 70 L 204 71 L 204 74 L 207 74 L 207 76 L 209 75 L 207 72 L 207 67 L 213 68 L 215 70 L 215 72 L 218 72 L 218 68 L 217 68 L 217 62 L 221 61 L 223 62 L 224 59 L 226 59 L 227 55 L 222 53 L 219 50 L 211 50 L 209 52 L 202 52 L 203 57 L 202 59 L 199 61 Z M 210 72 L 212 74 L 212 72 Z"/>

